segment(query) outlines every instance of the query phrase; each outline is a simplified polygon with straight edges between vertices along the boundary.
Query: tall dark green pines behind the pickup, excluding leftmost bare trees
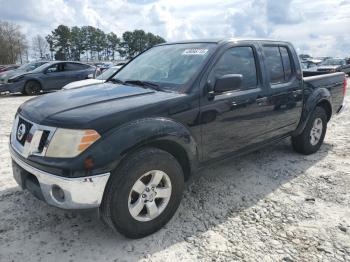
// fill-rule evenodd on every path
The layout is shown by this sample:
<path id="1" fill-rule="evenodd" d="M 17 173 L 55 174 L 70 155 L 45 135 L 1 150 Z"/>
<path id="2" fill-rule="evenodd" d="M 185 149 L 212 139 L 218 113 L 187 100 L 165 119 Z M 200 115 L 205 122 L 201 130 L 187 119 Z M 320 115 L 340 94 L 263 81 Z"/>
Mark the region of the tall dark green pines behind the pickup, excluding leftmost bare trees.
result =
<path id="1" fill-rule="evenodd" d="M 39 38 L 40 36 L 37 36 L 33 39 L 33 46 L 37 47 L 37 53 L 44 55 L 42 49 L 45 49 L 45 46 L 39 44 L 43 39 L 39 41 Z M 126 31 L 118 37 L 113 32 L 105 33 L 93 26 L 70 28 L 66 25 L 59 25 L 45 39 L 51 59 L 77 61 L 115 60 L 119 57 L 128 59 L 165 42 L 162 37 L 144 30 Z"/>

